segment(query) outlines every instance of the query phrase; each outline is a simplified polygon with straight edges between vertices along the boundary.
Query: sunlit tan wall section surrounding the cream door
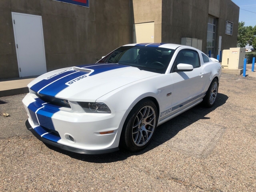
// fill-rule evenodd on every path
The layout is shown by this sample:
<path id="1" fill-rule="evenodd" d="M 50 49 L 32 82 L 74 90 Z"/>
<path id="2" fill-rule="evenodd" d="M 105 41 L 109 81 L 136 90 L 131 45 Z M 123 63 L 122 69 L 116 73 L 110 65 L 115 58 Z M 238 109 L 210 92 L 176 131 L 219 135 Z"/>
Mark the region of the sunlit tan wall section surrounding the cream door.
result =
<path id="1" fill-rule="evenodd" d="M 154 22 L 155 42 L 162 42 L 162 0 L 130 0 L 131 43 L 133 43 L 133 25 Z"/>

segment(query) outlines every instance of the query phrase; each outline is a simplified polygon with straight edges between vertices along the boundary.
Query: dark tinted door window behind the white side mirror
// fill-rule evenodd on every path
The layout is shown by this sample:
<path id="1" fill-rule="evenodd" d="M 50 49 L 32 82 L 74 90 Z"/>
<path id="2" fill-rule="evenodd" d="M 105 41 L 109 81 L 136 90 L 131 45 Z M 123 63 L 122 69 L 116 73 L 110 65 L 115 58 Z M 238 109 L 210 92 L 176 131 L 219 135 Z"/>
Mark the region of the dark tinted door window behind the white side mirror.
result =
<path id="1" fill-rule="evenodd" d="M 173 69 L 180 63 L 193 65 L 193 68 L 198 68 L 200 67 L 200 58 L 196 51 L 184 50 L 178 53 Z"/>

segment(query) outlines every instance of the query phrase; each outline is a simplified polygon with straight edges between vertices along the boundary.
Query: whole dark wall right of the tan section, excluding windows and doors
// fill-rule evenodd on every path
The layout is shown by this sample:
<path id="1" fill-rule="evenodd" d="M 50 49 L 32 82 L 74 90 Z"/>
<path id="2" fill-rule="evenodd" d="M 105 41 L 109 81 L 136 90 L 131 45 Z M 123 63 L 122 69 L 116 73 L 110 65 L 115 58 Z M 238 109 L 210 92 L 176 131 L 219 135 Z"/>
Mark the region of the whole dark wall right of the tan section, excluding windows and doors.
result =
<path id="1" fill-rule="evenodd" d="M 202 39 L 202 51 L 206 53 L 208 15 L 217 18 L 214 57 L 219 36 L 221 50 L 236 47 L 239 7 L 231 0 L 162 0 L 162 42 L 180 44 L 182 37 Z M 233 22 L 232 36 L 225 34 L 227 20 Z"/>

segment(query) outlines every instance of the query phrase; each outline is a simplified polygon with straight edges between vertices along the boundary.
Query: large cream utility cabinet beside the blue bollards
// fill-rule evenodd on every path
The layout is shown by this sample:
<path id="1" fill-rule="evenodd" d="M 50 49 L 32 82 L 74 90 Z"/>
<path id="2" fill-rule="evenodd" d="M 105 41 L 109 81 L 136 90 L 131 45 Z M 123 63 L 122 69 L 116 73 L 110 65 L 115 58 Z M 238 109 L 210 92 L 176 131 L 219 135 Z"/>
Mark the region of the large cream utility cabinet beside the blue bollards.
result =
<path id="1" fill-rule="evenodd" d="M 245 48 L 230 48 L 223 50 L 222 67 L 228 69 L 241 69 L 244 67 Z"/>

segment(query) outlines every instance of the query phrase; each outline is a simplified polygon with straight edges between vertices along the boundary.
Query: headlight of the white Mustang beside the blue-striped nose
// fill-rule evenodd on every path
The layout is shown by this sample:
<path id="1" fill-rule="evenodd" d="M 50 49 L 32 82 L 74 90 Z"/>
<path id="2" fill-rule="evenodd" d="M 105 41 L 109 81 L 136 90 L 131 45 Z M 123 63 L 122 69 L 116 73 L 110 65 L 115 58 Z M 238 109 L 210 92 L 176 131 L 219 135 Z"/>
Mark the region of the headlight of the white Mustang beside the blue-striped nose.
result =
<path id="1" fill-rule="evenodd" d="M 105 103 L 78 102 L 86 113 L 111 113 Z"/>

